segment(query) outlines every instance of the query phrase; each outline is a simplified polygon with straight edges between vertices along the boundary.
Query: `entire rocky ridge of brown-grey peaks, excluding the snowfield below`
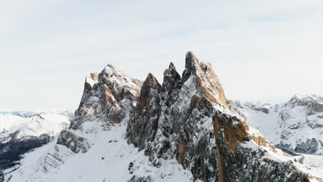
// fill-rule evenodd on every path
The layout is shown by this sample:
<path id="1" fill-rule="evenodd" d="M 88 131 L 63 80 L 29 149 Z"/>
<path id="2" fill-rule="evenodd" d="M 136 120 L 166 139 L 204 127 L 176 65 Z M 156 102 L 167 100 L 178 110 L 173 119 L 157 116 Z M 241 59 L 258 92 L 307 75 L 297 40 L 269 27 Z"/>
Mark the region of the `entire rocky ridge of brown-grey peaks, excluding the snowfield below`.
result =
<path id="1" fill-rule="evenodd" d="M 75 115 L 57 139 L 75 153 L 91 149 L 90 123 L 100 122 L 107 132 L 125 123 L 126 141 L 144 151 L 150 165 L 159 168 L 175 159 L 191 181 L 309 181 L 292 161 L 280 160 L 289 154 L 228 106 L 211 64 L 192 52 L 186 54 L 182 77 L 170 63 L 163 83 L 151 73 L 142 83 L 112 65 L 88 75 Z M 133 174 L 128 181 L 154 181 L 154 176 Z"/>

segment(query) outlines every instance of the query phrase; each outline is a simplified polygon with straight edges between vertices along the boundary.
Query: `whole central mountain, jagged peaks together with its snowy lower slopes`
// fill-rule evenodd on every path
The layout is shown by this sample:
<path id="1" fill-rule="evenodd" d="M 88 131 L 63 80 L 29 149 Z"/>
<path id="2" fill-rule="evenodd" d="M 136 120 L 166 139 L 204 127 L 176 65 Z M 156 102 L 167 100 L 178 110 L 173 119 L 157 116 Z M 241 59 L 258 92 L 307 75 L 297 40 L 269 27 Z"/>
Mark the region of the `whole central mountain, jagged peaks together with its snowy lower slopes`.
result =
<path id="1" fill-rule="evenodd" d="M 107 65 L 86 77 L 70 126 L 3 181 L 322 181 L 323 157 L 275 148 L 266 128 L 277 125 L 258 119 L 281 106 L 260 105 L 227 101 L 192 52 L 182 77 L 170 63 L 161 84 Z"/>

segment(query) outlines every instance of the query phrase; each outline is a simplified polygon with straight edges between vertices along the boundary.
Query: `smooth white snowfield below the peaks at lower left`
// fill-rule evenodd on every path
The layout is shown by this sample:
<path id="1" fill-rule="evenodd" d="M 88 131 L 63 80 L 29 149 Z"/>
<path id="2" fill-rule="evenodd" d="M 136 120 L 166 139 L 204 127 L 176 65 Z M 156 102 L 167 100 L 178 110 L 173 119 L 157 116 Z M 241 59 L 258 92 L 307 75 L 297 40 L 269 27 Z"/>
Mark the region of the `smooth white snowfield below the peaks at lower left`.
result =
<path id="1" fill-rule="evenodd" d="M 95 121 L 95 124 L 98 123 Z M 86 153 L 74 154 L 63 145 L 48 143 L 24 156 L 21 168 L 12 173 L 11 181 L 128 181 L 133 175 L 150 175 L 154 181 L 192 181 L 191 173 L 175 159 L 161 159 L 160 168 L 150 165 L 144 151 L 138 152 L 133 145 L 128 145 L 124 139 L 125 132 L 124 123 L 111 126 L 109 131 L 97 132 L 90 139 L 94 144 Z M 46 158 L 57 153 L 57 150 L 59 155 L 56 155 L 61 163 L 50 168 Z M 133 174 L 128 170 L 131 162 Z M 53 162 L 50 163 L 52 165 Z"/>

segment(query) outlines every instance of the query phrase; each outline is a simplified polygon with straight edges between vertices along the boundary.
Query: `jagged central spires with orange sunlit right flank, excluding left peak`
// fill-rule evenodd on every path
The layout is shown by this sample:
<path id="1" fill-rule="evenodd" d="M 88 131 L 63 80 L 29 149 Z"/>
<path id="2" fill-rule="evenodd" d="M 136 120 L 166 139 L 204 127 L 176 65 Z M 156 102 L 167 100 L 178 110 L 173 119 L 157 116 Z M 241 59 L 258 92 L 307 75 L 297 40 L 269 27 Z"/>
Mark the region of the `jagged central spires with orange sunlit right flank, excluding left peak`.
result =
<path id="1" fill-rule="evenodd" d="M 145 83 L 157 83 L 151 78 L 148 75 Z M 148 85 L 148 90 L 141 89 L 146 99 L 139 99 L 126 138 L 145 150 L 153 165 L 175 158 L 190 170 L 194 181 L 309 181 L 292 164 L 264 157 L 268 150 L 276 152 L 275 147 L 231 112 L 211 65 L 199 62 L 192 52 L 186 54 L 182 79 L 170 63 L 161 90 Z M 153 114 L 145 119 L 141 114 L 147 103 Z"/>

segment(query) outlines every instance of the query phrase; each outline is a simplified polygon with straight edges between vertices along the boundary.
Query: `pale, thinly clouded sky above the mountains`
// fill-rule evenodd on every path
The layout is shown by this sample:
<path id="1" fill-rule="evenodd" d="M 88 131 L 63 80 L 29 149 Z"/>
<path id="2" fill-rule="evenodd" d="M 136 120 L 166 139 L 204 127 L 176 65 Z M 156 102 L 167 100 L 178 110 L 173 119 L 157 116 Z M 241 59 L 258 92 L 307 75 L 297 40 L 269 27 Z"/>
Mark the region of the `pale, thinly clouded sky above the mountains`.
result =
<path id="1" fill-rule="evenodd" d="M 323 95 L 322 0 L 0 1 L 0 110 L 76 109 L 86 74 L 112 64 L 162 83 L 185 54 L 226 97 Z"/>

